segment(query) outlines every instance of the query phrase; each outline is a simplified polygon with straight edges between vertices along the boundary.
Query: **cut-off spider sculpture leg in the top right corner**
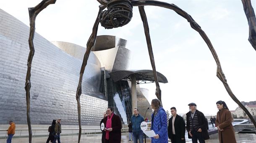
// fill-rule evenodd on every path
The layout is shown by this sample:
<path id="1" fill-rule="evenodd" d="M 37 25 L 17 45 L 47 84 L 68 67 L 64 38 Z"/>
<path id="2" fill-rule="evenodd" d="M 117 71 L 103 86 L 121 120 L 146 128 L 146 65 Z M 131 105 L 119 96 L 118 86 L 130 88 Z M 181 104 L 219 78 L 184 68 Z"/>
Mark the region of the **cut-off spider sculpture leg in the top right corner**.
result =
<path id="1" fill-rule="evenodd" d="M 246 13 L 246 18 L 249 25 L 249 38 L 248 41 L 251 46 L 256 50 L 256 17 L 251 5 L 251 0 L 242 0 L 243 10 Z"/>

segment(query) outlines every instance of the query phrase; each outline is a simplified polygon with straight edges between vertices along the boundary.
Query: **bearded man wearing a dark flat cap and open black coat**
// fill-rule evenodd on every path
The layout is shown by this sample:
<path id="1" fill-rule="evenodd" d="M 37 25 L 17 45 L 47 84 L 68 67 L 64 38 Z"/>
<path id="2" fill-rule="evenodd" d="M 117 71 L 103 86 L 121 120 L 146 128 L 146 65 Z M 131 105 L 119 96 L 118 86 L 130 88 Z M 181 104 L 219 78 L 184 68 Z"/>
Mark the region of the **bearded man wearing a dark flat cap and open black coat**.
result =
<path id="1" fill-rule="evenodd" d="M 204 117 L 204 114 L 199 110 L 196 110 L 195 103 L 189 103 L 189 112 L 187 115 L 187 130 L 188 130 L 188 138 L 192 138 L 192 143 L 205 143 L 204 140 L 208 140 L 208 121 Z"/>

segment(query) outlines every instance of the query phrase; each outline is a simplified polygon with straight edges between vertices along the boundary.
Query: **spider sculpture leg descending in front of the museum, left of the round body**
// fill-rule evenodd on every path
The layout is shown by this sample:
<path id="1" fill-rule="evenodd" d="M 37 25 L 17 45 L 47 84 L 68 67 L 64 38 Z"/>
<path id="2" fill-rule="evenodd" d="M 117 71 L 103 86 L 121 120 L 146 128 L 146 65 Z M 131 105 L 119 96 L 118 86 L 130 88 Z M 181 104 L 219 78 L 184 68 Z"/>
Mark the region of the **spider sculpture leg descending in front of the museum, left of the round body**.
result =
<path id="1" fill-rule="evenodd" d="M 95 39 L 97 36 L 97 31 L 98 31 L 98 26 L 99 26 L 99 14 L 102 12 L 102 10 L 106 8 L 106 6 L 104 5 L 100 5 L 99 6 L 99 13 L 98 16 L 95 20 L 94 26 L 92 28 L 92 33 L 91 36 L 89 38 L 89 40 L 87 41 L 86 44 L 86 52 L 84 54 L 84 59 L 83 59 L 83 63 L 81 66 L 81 70 L 80 70 L 80 78 L 79 78 L 79 82 L 78 82 L 78 87 L 76 90 L 76 101 L 77 101 L 77 110 L 78 110 L 78 124 L 79 124 L 79 134 L 78 134 L 78 143 L 80 143 L 80 139 L 81 139 L 81 104 L 80 104 L 80 97 L 82 94 L 82 81 L 83 81 L 83 75 L 84 75 L 84 69 L 85 66 L 87 64 L 88 58 L 89 58 L 89 54 L 91 52 L 91 47 L 94 45 L 95 43 Z"/>

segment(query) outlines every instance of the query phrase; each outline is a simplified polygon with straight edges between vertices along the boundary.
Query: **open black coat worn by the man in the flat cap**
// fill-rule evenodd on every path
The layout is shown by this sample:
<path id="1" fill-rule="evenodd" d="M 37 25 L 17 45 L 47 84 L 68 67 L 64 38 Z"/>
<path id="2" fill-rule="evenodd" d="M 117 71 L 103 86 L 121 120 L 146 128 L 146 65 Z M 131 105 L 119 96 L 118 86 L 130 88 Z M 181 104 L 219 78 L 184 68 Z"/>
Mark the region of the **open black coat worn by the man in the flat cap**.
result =
<path id="1" fill-rule="evenodd" d="M 196 113 L 197 113 L 197 116 L 198 116 L 198 122 L 199 122 L 199 128 L 201 128 L 202 130 L 202 133 L 203 133 L 203 138 L 204 140 L 208 140 L 210 137 L 209 137 L 209 134 L 208 134 L 208 130 L 207 130 L 207 127 L 208 127 L 208 121 L 206 120 L 204 114 L 202 112 L 200 112 L 199 110 L 196 110 Z M 189 131 L 189 127 L 190 127 L 190 122 L 189 122 L 189 117 L 191 116 L 191 113 L 190 112 L 187 112 L 187 131 Z M 188 138 L 192 138 L 189 133 L 188 133 Z"/>

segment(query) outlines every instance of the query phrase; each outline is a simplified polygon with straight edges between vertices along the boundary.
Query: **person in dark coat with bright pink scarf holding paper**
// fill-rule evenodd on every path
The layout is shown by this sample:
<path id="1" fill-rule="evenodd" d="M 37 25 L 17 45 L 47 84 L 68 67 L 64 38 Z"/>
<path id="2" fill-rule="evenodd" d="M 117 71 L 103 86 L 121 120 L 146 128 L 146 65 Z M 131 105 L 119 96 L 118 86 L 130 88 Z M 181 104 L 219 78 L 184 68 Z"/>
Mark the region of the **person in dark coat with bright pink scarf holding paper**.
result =
<path id="1" fill-rule="evenodd" d="M 107 117 L 103 121 L 106 132 L 105 143 L 121 143 L 122 123 L 120 117 L 115 115 L 113 107 L 107 108 Z"/>

